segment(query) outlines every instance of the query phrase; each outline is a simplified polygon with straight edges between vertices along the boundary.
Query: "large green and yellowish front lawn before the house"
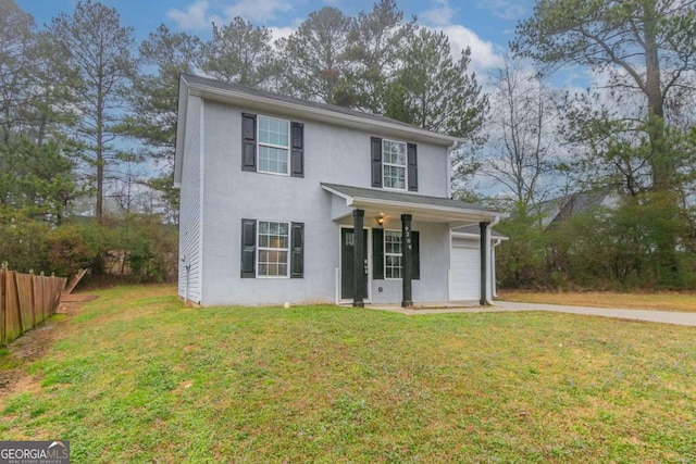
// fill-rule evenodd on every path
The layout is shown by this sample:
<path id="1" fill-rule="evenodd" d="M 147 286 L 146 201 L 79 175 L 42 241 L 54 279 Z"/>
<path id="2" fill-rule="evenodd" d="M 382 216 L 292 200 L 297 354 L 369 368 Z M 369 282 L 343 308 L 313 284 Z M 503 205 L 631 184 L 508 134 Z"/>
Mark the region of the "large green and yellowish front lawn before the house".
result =
<path id="1" fill-rule="evenodd" d="M 74 463 L 696 462 L 692 327 L 98 293 L 49 323 L 2 439 Z"/>

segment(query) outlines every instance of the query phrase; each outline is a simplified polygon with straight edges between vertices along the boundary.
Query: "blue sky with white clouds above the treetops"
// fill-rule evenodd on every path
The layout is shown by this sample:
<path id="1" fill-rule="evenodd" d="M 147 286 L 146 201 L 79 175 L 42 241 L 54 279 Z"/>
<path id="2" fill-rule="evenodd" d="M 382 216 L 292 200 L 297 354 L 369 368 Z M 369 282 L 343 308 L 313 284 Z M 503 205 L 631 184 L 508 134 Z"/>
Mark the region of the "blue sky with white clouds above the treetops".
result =
<path id="1" fill-rule="evenodd" d="M 71 13 L 77 0 L 15 0 L 37 24 L 49 23 L 63 11 Z M 290 34 L 312 11 L 336 7 L 347 15 L 370 11 L 372 0 L 101 0 L 119 10 L 124 25 L 135 28 L 138 41 L 160 24 L 174 32 L 201 38 L 211 34 L 210 23 L 225 24 L 243 16 L 271 28 L 274 37 Z M 472 65 L 478 74 L 501 64 L 501 54 L 512 39 L 518 21 L 532 12 L 533 0 L 397 0 L 406 17 L 445 32 L 456 55 L 472 49 Z"/>

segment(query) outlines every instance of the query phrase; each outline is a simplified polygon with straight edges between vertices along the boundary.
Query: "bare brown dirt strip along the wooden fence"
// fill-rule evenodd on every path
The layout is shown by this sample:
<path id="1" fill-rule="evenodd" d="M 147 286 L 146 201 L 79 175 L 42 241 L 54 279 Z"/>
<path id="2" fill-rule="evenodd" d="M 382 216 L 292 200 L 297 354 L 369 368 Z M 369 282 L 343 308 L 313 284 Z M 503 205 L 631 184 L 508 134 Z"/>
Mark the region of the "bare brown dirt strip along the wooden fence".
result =
<path id="1" fill-rule="evenodd" d="M 40 389 L 40 379 L 29 375 L 25 369 L 26 365 L 44 356 L 53 343 L 66 337 L 69 321 L 79 312 L 85 302 L 97 298 L 99 297 L 94 294 L 63 296 L 57 311 L 63 317 L 45 321 L 8 346 L 10 353 L 2 361 L 12 367 L 0 367 L 0 410 L 4 407 L 4 400 L 10 394 Z"/>

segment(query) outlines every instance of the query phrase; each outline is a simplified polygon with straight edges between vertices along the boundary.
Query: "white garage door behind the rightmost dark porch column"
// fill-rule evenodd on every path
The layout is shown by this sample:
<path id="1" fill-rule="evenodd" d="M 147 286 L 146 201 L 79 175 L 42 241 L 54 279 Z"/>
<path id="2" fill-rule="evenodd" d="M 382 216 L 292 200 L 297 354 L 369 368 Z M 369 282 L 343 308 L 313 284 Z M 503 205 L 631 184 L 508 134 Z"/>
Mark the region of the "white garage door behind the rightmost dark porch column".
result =
<path id="1" fill-rule="evenodd" d="M 452 244 L 449 269 L 449 299 L 451 301 L 478 300 L 481 292 L 481 251 L 478 243 L 476 240 L 458 240 Z"/>

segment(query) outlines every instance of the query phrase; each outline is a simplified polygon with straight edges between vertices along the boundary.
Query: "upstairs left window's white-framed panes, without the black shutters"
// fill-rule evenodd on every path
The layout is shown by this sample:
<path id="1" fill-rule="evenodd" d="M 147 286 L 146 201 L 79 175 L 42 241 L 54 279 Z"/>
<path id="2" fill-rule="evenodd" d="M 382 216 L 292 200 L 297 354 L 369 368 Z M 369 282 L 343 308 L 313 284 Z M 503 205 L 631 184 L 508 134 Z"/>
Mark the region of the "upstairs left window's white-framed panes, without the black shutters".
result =
<path id="1" fill-rule="evenodd" d="M 289 126 L 288 121 L 258 116 L 259 172 L 288 175 Z"/>

